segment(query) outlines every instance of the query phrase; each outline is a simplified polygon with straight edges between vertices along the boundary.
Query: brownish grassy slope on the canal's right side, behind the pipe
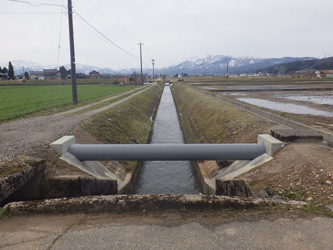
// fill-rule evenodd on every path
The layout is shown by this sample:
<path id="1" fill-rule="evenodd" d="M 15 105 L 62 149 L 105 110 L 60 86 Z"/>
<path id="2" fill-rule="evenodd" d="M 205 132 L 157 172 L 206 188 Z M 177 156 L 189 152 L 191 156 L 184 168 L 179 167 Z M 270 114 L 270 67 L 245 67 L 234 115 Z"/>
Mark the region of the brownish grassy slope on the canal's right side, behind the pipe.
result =
<path id="1" fill-rule="evenodd" d="M 195 88 L 173 84 L 180 122 L 188 143 L 250 143 L 276 124 L 250 115 Z"/>

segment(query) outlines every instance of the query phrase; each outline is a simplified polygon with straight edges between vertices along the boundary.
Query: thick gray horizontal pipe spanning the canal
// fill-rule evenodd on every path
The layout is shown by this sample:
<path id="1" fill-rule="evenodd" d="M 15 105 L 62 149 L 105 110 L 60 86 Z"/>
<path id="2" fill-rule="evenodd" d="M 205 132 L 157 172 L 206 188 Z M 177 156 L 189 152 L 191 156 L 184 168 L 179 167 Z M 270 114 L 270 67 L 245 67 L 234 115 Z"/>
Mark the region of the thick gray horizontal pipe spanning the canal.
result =
<path id="1" fill-rule="evenodd" d="M 253 160 L 263 144 L 73 144 L 78 160 Z"/>

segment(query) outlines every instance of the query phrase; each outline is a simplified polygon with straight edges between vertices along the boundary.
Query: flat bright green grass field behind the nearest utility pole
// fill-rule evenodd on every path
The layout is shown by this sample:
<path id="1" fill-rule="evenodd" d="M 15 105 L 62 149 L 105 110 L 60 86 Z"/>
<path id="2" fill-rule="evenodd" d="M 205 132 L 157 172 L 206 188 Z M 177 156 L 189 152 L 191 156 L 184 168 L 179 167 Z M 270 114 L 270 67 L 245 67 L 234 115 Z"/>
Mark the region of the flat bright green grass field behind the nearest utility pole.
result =
<path id="1" fill-rule="evenodd" d="M 78 85 L 78 101 L 98 99 L 134 86 Z M 0 122 L 71 105 L 71 85 L 0 87 Z"/>

